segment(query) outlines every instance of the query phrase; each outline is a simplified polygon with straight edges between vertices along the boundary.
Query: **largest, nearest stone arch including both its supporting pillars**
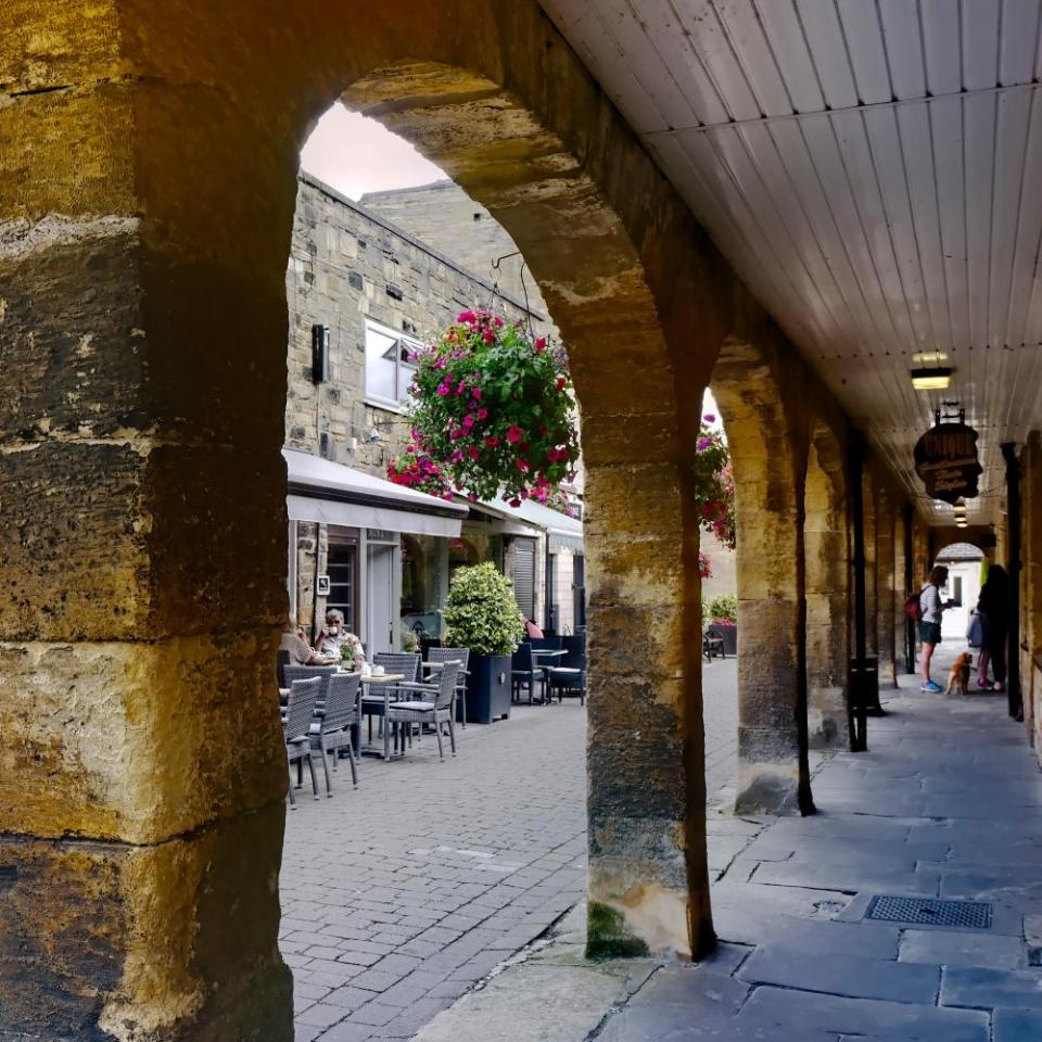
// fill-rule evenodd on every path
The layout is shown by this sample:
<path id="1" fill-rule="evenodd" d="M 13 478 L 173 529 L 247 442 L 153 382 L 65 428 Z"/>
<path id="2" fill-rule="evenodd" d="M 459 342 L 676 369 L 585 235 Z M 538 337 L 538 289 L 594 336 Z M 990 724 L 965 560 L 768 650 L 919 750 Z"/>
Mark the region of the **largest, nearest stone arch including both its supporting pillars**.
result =
<path id="1" fill-rule="evenodd" d="M 27 13 L 26 34 L 47 18 Z M 79 1037 L 291 1033 L 271 885 L 283 276 L 297 149 L 345 89 L 504 224 L 573 350 L 595 514 L 593 936 L 704 952 L 686 406 L 734 315 L 764 321 L 758 305 L 532 0 L 232 0 L 205 17 L 73 0 L 46 28 L 53 62 L 11 52 L 26 34 L 0 45 L 0 138 L 20 142 L 0 155 L 17 389 L 0 406 L 0 510 L 20 504 L 23 533 L 4 547 L 0 831 L 17 837 L 5 910 L 40 931 L 26 951 L 73 954 L 26 964 L 10 1003 L 4 983 L 9 1018 Z M 56 943 L 85 900 L 105 944 L 75 926 Z"/>

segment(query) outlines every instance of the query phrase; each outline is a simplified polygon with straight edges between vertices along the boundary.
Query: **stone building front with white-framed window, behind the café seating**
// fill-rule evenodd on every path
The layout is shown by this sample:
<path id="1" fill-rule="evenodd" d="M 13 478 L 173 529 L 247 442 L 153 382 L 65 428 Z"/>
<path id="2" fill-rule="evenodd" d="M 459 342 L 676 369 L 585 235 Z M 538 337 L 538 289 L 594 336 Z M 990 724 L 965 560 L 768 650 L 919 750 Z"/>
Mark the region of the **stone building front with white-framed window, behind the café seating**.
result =
<path id="1" fill-rule="evenodd" d="M 475 306 L 493 306 L 508 321 L 531 321 L 536 335 L 552 329 L 543 313 L 505 288 L 494 290 L 446 253 L 330 186 L 307 174 L 298 186 L 287 269 L 285 447 L 383 479 L 408 436 L 405 390 L 414 346 Z M 425 198 L 437 205 L 446 194 Z M 468 220 L 459 243 L 467 243 L 476 224 Z M 467 255 L 479 249 L 460 246 Z M 316 327 L 328 336 L 321 381 L 314 369 Z M 290 476 L 292 483 L 292 467 Z M 391 487 L 384 492 L 395 494 Z M 493 506 L 498 509 L 473 507 L 457 538 L 409 531 L 404 517 L 392 521 L 394 529 L 374 529 L 360 513 L 358 523 L 330 524 L 306 510 L 306 517 L 293 517 L 291 509 L 291 613 L 315 630 L 327 607 L 338 607 L 372 650 L 396 650 L 404 628 L 440 636 L 437 609 L 456 567 L 492 560 L 514 580 L 526 613 L 543 622 L 552 611 L 558 626 L 572 628 L 571 549 L 555 546 L 549 561 L 545 531 L 504 517 L 506 505 Z"/>

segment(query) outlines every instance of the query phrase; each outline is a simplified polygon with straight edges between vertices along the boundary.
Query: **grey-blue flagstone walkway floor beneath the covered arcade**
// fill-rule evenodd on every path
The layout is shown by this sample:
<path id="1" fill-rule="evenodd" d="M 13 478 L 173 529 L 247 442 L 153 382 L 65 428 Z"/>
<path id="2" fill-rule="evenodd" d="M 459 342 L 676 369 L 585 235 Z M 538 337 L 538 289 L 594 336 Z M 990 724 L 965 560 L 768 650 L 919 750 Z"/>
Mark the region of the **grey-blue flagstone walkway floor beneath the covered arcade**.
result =
<path id="1" fill-rule="evenodd" d="M 418 1039 L 497 1039 L 506 1011 L 516 1042 L 551 1037 L 539 1031 L 552 1018 L 556 1042 L 1042 1038 L 1042 776 L 1004 698 L 905 681 L 871 723 L 869 753 L 817 773 L 816 816 L 747 825 L 713 886 L 723 943 L 707 963 L 586 963 L 574 919 Z M 716 862 L 734 824 L 710 829 Z M 877 894 L 982 902 L 990 925 L 869 922 Z"/>

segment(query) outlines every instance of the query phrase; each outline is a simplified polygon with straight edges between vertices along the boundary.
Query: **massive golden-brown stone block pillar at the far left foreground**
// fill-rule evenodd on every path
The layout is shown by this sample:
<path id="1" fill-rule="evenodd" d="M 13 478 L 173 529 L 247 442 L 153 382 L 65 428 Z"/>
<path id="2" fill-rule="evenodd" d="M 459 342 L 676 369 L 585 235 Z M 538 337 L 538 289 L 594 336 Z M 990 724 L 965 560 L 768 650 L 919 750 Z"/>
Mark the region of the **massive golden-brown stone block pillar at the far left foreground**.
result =
<path id="1" fill-rule="evenodd" d="M 271 150 L 219 91 L 126 75 L 103 0 L 26 16 L 53 61 L 0 40 L 0 1033 L 289 1040 L 292 165 L 258 207 Z"/>

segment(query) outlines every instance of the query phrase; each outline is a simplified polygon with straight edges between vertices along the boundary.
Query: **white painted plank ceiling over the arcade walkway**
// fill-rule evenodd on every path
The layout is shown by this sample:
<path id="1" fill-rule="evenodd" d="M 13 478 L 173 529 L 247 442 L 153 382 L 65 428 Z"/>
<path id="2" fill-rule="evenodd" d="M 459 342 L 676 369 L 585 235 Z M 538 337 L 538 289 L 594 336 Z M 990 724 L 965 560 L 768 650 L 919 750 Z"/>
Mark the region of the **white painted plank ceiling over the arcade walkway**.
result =
<path id="1" fill-rule="evenodd" d="M 1042 0 L 542 0 L 721 251 L 936 520 L 942 402 L 1042 423 Z M 912 389 L 944 352 L 946 392 Z"/>

